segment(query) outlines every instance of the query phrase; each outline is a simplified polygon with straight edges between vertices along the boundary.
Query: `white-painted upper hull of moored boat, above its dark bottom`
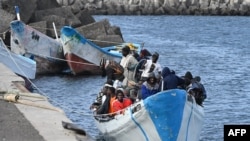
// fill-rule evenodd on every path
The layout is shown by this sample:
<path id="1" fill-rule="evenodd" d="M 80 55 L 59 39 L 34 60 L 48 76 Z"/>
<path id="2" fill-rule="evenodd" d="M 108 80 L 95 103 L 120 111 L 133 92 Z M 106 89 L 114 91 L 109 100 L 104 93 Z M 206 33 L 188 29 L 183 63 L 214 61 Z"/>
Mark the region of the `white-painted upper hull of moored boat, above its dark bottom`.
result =
<path id="1" fill-rule="evenodd" d="M 50 60 L 63 59 L 62 44 L 55 39 L 25 25 L 22 21 L 12 21 L 11 50 L 23 55 L 30 53 Z"/>

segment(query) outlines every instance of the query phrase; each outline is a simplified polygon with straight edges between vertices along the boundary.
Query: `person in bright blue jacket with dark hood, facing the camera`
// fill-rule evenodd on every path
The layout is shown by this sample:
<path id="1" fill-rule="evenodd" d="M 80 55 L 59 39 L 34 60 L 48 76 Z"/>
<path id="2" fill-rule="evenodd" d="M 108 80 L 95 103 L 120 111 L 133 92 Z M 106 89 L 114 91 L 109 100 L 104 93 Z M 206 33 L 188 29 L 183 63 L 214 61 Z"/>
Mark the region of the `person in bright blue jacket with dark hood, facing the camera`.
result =
<path id="1" fill-rule="evenodd" d="M 141 98 L 146 99 L 147 97 L 154 95 L 159 92 L 159 84 L 154 73 L 150 73 L 147 81 L 141 86 Z"/>

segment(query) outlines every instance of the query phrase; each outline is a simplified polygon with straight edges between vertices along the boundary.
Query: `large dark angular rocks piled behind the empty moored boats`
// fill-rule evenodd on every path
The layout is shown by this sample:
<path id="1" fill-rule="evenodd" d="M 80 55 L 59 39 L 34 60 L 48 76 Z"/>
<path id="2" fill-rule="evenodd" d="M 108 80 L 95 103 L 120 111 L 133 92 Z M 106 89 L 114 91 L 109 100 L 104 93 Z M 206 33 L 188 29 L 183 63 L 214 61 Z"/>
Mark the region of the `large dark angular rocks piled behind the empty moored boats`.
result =
<path id="1" fill-rule="evenodd" d="M 111 25 L 108 19 L 96 22 L 80 1 L 60 4 L 63 5 L 56 0 L 0 0 L 0 37 L 10 45 L 9 25 L 17 19 L 15 6 L 18 6 L 21 21 L 52 38 L 56 38 L 52 24 L 55 23 L 59 36 L 60 29 L 69 25 L 101 47 L 124 42 L 118 26 Z"/>

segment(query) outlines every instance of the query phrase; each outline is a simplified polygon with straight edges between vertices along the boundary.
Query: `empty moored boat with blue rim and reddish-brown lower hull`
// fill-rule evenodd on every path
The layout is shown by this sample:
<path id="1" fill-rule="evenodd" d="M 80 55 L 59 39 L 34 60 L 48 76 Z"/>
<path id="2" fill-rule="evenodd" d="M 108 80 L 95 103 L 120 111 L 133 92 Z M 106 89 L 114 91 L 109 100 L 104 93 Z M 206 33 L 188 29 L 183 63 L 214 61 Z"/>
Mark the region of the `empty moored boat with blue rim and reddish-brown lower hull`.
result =
<path id="1" fill-rule="evenodd" d="M 70 26 L 61 29 L 61 41 L 68 65 L 73 74 L 90 73 L 101 74 L 100 62 L 102 59 L 120 62 L 121 48 L 130 45 L 139 52 L 140 44 L 123 43 L 117 46 L 101 48 L 87 40 Z"/>

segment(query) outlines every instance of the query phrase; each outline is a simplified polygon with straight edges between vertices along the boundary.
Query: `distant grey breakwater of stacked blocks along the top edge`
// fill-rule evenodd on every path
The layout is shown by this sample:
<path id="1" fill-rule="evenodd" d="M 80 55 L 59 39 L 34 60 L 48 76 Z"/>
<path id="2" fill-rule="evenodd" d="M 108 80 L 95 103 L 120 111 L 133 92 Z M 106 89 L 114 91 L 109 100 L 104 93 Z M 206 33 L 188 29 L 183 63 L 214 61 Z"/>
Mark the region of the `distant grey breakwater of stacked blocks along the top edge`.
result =
<path id="1" fill-rule="evenodd" d="M 95 15 L 250 15 L 250 0 L 56 0 Z"/>

